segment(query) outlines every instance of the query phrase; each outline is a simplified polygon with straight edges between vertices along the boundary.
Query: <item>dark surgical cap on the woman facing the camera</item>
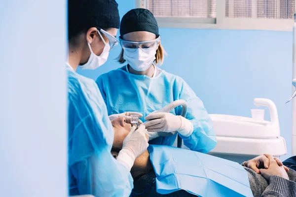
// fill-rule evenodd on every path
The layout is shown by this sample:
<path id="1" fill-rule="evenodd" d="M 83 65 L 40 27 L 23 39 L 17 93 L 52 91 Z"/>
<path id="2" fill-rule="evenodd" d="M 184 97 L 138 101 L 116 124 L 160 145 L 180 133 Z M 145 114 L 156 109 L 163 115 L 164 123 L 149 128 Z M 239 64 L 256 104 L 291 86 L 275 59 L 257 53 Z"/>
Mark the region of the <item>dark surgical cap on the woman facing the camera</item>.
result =
<path id="1" fill-rule="evenodd" d="M 120 36 L 131 32 L 150 32 L 158 36 L 158 25 L 148 9 L 137 8 L 128 11 L 121 19 Z"/>

